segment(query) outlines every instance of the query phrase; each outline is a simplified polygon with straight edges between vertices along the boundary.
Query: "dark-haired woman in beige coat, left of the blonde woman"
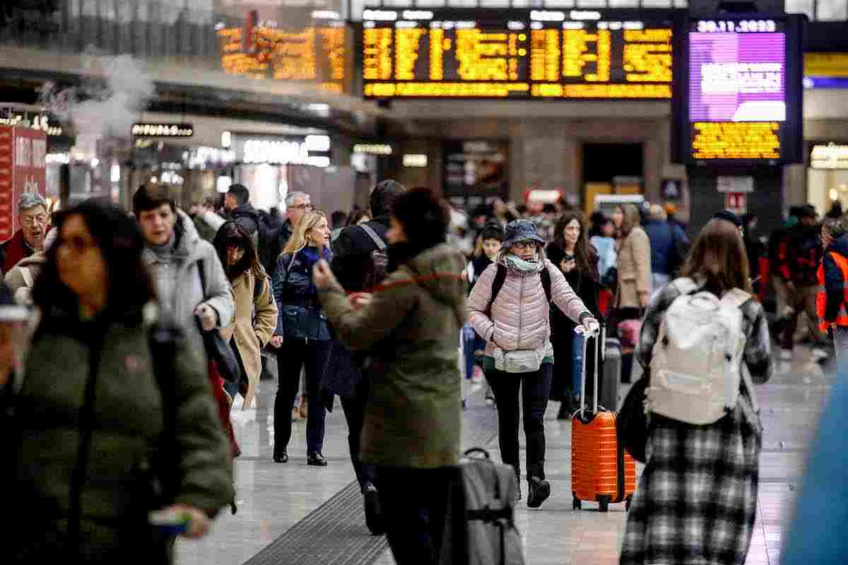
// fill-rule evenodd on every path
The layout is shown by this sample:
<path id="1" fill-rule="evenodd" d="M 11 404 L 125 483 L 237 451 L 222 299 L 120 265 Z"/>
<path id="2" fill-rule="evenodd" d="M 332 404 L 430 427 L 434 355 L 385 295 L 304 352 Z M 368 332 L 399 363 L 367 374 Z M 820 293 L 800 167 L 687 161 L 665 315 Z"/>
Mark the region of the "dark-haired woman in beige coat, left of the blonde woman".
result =
<path id="1" fill-rule="evenodd" d="M 271 280 L 259 263 L 253 239 L 241 224 L 231 221 L 220 226 L 212 245 L 236 299 L 235 318 L 232 324 L 221 328 L 220 335 L 230 342 L 247 377 L 247 382 L 239 383 L 237 389 L 244 397 L 243 408 L 249 408 L 262 374 L 262 348 L 271 342 L 276 330 L 274 293 Z M 232 388 L 228 391 L 232 394 Z"/>

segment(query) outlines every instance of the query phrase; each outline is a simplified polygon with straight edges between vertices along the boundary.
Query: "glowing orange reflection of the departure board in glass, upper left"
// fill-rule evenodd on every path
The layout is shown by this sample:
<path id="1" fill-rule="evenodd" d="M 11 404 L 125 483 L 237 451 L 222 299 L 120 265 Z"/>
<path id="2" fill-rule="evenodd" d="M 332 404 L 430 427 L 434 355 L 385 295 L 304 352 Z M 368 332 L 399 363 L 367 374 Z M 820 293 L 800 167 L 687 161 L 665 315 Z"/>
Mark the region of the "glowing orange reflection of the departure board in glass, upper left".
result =
<path id="1" fill-rule="evenodd" d="M 343 91 L 348 80 L 346 31 L 344 22 L 331 20 L 297 29 L 224 28 L 218 30 L 221 67 L 232 75 L 310 81 L 324 90 Z"/>

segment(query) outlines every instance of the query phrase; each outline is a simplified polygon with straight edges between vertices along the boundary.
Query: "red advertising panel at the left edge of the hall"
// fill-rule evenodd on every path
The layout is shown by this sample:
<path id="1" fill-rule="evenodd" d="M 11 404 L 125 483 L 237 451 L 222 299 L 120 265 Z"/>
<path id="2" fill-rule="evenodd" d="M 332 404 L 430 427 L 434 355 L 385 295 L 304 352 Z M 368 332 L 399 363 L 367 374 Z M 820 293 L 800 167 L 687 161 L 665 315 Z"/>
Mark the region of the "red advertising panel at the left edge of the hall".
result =
<path id="1" fill-rule="evenodd" d="M 47 135 L 20 125 L 0 125 L 0 241 L 14 235 L 20 195 L 46 195 Z"/>

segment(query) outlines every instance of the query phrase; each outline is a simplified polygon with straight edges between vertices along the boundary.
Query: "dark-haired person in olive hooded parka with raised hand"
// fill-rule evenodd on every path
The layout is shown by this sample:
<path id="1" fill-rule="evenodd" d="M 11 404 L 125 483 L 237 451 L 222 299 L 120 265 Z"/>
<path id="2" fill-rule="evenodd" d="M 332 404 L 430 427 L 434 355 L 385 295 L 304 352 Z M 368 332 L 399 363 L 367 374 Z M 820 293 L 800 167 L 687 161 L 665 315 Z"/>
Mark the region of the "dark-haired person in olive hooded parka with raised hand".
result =
<path id="1" fill-rule="evenodd" d="M 382 514 L 398 565 L 437 562 L 447 484 L 440 467 L 460 450 L 456 336 L 466 319 L 465 260 L 444 243 L 449 209 L 418 188 L 394 199 L 388 278 L 349 299 L 326 262 L 315 267 L 338 338 L 371 350 L 362 429 L 365 463 L 377 464 Z M 437 518 L 439 517 L 439 518 Z"/>

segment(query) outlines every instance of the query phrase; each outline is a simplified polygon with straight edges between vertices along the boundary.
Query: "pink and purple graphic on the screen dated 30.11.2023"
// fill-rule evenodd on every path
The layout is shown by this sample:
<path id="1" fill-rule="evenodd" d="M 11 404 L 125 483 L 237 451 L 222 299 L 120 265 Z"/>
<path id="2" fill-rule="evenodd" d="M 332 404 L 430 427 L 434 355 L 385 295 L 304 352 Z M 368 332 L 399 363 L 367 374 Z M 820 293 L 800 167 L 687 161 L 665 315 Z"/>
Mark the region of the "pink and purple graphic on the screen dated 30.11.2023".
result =
<path id="1" fill-rule="evenodd" d="M 689 121 L 785 121 L 785 47 L 781 32 L 689 33 Z"/>

